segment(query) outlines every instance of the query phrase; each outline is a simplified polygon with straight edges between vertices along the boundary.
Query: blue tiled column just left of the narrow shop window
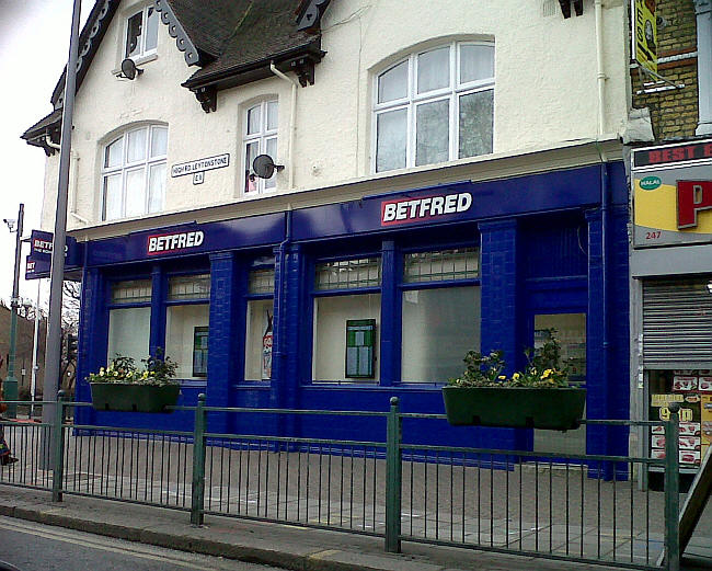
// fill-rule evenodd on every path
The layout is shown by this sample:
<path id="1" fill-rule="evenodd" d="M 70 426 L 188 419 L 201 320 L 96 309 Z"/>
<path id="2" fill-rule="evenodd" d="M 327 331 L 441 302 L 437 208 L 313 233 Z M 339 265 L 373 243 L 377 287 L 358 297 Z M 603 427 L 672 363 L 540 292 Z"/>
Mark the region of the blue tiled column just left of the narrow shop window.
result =
<path id="1" fill-rule="evenodd" d="M 210 255 L 210 327 L 208 332 L 207 406 L 227 407 L 230 386 L 243 370 L 243 352 L 237 331 L 240 267 L 232 252 Z M 228 414 L 211 413 L 209 429 L 228 432 Z"/>

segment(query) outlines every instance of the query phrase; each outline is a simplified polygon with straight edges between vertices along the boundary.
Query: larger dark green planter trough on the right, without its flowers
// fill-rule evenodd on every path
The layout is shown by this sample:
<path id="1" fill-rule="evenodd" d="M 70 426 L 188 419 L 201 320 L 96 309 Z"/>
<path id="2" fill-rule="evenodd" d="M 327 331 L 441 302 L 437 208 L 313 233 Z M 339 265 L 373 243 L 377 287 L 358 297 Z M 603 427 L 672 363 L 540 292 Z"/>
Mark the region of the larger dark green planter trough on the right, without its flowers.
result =
<path id="1" fill-rule="evenodd" d="M 586 389 L 443 387 L 445 413 L 455 426 L 577 429 Z"/>

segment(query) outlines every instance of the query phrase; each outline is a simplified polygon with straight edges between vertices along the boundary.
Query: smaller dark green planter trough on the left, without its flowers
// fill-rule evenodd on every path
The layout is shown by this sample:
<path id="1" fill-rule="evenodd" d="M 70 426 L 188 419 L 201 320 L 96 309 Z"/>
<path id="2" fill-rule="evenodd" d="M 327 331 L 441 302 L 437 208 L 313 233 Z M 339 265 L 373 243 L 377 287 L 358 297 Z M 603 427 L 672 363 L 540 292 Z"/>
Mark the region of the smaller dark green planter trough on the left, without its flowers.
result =
<path id="1" fill-rule="evenodd" d="M 165 407 L 177 402 L 180 385 L 135 385 L 133 382 L 91 382 L 94 410 L 123 412 L 172 412 Z"/>

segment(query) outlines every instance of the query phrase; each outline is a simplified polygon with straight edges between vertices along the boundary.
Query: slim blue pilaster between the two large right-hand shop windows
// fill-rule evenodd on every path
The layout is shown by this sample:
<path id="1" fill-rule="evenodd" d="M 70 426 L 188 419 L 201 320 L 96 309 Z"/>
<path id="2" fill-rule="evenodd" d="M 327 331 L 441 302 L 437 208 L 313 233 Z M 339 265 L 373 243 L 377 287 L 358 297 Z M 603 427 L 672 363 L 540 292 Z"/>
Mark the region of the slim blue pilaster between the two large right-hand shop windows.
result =
<path id="1" fill-rule="evenodd" d="M 395 244 L 383 240 L 381 247 L 381 354 L 380 385 L 390 387 L 401 380 L 401 300 L 398 296 L 399 263 Z"/>

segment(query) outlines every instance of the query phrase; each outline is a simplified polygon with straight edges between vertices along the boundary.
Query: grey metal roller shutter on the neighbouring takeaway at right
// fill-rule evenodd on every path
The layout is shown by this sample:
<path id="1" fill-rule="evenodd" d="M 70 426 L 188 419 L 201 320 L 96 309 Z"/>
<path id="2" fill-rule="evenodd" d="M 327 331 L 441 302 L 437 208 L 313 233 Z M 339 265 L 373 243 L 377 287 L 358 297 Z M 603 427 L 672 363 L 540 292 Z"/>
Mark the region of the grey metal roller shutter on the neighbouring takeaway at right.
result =
<path id="1" fill-rule="evenodd" d="M 712 368 L 711 277 L 643 282 L 646 368 Z"/>

